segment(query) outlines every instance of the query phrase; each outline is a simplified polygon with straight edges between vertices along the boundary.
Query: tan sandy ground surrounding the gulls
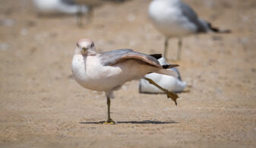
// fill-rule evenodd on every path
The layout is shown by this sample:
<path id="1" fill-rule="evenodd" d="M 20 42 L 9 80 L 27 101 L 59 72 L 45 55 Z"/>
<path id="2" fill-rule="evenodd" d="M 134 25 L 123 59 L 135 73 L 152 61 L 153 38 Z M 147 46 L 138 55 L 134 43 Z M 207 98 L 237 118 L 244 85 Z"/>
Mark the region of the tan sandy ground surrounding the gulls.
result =
<path id="1" fill-rule="evenodd" d="M 126 83 L 106 119 L 103 93 L 71 75 L 77 39 L 103 52 L 163 52 L 150 24 L 150 0 L 103 5 L 84 28 L 75 17 L 37 17 L 28 0 L 0 0 L 0 147 L 255 147 L 256 2 L 186 0 L 230 34 L 188 36 L 179 67 L 191 88 L 178 106 L 164 95 L 139 94 Z M 175 58 L 177 39 L 170 40 Z"/>

